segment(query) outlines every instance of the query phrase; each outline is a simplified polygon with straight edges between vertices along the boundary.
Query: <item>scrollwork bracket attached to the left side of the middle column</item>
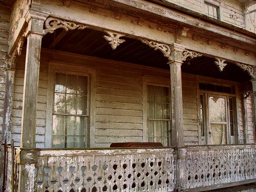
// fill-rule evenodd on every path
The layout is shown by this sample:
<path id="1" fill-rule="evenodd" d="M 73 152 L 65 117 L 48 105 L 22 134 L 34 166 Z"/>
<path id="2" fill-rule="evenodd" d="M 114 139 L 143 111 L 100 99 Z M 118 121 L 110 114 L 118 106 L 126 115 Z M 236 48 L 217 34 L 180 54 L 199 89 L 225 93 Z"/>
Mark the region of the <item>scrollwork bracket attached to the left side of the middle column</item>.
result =
<path id="1" fill-rule="evenodd" d="M 169 61 L 172 61 L 169 45 L 164 43 L 157 43 L 154 41 L 148 41 L 147 39 L 140 39 L 140 41 L 144 44 L 147 44 L 150 48 L 154 48 L 154 50 L 160 50 L 163 56 L 167 57 Z"/>

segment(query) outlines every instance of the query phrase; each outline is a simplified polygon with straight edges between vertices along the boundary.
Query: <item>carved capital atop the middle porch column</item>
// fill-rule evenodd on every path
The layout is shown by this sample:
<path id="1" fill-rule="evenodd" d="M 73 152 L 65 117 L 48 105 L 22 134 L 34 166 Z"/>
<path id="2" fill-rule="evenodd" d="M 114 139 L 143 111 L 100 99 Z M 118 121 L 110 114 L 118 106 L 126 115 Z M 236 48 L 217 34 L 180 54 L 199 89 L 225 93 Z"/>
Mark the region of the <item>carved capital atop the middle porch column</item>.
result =
<path id="1" fill-rule="evenodd" d="M 168 64 L 173 64 L 173 63 L 183 63 L 183 57 L 182 57 L 182 52 L 185 50 L 185 46 L 178 44 L 178 43 L 173 43 L 170 44 L 170 55 L 171 55 L 171 60 L 168 62 Z"/>

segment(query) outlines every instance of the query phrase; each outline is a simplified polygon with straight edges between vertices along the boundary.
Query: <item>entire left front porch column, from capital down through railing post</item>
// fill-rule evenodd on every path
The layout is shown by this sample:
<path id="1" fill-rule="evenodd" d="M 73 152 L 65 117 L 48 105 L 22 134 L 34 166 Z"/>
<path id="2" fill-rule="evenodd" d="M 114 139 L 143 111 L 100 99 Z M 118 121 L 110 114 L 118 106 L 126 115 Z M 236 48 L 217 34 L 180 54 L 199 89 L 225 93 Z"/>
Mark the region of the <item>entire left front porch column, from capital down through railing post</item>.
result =
<path id="1" fill-rule="evenodd" d="M 19 164 L 19 191 L 34 191 L 34 171 L 37 163 L 36 105 L 39 81 L 41 42 L 46 15 L 29 11 L 27 52 L 22 103 L 21 154 Z"/>

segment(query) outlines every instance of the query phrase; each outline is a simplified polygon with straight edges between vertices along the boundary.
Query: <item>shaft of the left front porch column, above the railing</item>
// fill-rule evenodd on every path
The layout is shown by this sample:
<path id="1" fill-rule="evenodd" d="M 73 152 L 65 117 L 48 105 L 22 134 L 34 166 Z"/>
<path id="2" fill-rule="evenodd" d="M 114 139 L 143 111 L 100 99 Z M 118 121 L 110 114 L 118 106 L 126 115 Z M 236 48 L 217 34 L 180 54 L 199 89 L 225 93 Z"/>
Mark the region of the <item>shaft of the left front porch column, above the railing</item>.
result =
<path id="1" fill-rule="evenodd" d="M 35 148 L 36 105 L 44 21 L 29 18 L 22 103 L 21 148 Z"/>

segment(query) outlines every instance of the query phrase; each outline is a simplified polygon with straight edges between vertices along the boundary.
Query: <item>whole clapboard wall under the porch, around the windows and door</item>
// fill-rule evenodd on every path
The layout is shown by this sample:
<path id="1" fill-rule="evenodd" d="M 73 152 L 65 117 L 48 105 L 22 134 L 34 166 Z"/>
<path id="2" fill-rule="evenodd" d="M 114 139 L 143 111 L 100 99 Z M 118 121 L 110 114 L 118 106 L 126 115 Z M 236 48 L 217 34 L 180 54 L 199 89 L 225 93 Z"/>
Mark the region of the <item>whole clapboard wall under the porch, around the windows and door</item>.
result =
<path id="1" fill-rule="evenodd" d="M 169 84 L 169 71 L 104 59 L 55 52 L 42 53 L 37 103 L 36 146 L 45 147 L 45 118 L 47 110 L 48 64 L 63 62 L 96 70 L 95 146 L 109 147 L 112 142 L 143 142 L 143 78 L 154 83 Z M 87 60 L 87 58 L 89 58 Z M 17 59 L 12 139 L 19 145 L 21 134 L 22 96 L 24 81 L 24 55 Z M 74 68 L 74 67 L 73 67 Z M 51 82 L 49 82 L 51 83 Z M 93 89 L 93 88 L 92 88 Z M 198 94 L 195 75 L 182 75 L 183 125 L 186 145 L 199 144 Z M 239 143 L 244 142 L 242 104 L 237 99 Z M 248 114 L 252 105 L 248 100 Z M 252 120 L 251 112 L 251 120 Z M 252 133 L 254 126 L 250 127 Z M 252 136 L 251 136 L 252 137 Z M 250 138 L 251 138 L 250 137 Z M 251 142 L 254 142 L 251 138 Z"/>

